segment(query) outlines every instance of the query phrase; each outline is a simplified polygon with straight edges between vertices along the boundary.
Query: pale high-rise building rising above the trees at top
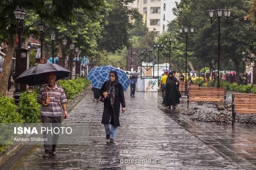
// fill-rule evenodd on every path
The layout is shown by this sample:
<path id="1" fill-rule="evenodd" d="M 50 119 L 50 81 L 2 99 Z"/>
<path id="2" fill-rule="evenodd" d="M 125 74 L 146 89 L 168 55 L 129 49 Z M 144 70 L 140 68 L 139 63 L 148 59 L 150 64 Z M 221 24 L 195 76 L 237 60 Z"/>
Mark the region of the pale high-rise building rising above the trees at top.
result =
<path id="1" fill-rule="evenodd" d="M 156 36 L 167 30 L 167 24 L 175 16 L 172 13 L 175 2 L 180 0 L 135 0 L 129 4 L 130 8 L 137 8 L 143 15 L 143 22 Z"/>

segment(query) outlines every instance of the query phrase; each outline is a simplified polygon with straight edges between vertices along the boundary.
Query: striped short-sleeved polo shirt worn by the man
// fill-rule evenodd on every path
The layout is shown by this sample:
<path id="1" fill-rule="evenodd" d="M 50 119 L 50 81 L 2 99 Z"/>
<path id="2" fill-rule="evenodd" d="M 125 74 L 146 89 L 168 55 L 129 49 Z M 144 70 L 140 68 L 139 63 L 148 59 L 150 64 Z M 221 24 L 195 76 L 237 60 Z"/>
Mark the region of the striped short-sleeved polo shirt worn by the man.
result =
<path id="1" fill-rule="evenodd" d="M 37 95 L 37 101 L 45 100 L 47 98 L 46 88 L 47 88 L 48 98 L 50 98 L 50 103 L 46 106 L 42 105 L 41 115 L 61 116 L 62 115 L 61 104 L 67 103 L 67 98 L 66 98 L 64 89 L 61 87 L 61 85 L 57 85 L 56 83 L 53 89 L 50 89 L 48 85 L 46 85 L 46 87 L 43 86 L 39 89 L 39 93 Z"/>

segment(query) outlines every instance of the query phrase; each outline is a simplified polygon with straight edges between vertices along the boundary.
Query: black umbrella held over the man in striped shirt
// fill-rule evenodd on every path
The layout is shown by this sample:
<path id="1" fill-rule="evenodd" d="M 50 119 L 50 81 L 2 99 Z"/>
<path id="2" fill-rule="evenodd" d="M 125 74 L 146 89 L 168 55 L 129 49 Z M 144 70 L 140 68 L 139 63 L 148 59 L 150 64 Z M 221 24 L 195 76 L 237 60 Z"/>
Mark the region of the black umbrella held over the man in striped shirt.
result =
<path id="1" fill-rule="evenodd" d="M 48 73 L 55 73 L 57 80 L 69 76 L 70 71 L 57 64 L 38 64 L 24 71 L 17 79 L 18 83 L 26 85 L 45 84 L 45 77 Z"/>

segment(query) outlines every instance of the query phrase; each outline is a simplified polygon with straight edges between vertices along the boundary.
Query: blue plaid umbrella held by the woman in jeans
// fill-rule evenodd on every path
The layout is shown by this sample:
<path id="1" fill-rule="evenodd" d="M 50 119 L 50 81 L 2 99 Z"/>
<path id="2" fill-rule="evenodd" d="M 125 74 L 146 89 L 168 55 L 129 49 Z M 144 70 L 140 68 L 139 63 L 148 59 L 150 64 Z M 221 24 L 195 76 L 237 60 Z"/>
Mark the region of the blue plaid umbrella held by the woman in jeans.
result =
<path id="1" fill-rule="evenodd" d="M 87 78 L 91 81 L 93 87 L 100 89 L 105 81 L 109 80 L 109 72 L 116 71 L 118 76 L 118 81 L 126 91 L 130 85 L 130 81 L 123 70 L 119 70 L 112 66 L 100 66 L 91 69 Z"/>

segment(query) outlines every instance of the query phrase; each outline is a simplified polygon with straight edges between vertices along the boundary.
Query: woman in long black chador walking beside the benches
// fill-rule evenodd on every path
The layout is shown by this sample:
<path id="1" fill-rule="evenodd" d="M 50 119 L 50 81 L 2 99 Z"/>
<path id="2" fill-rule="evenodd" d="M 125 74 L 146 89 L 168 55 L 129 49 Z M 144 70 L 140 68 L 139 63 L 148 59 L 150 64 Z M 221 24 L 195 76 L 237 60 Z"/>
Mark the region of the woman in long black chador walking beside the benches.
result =
<path id="1" fill-rule="evenodd" d="M 165 106 L 175 108 L 180 103 L 181 94 L 179 92 L 179 81 L 170 72 L 166 80 L 165 87 Z"/>

